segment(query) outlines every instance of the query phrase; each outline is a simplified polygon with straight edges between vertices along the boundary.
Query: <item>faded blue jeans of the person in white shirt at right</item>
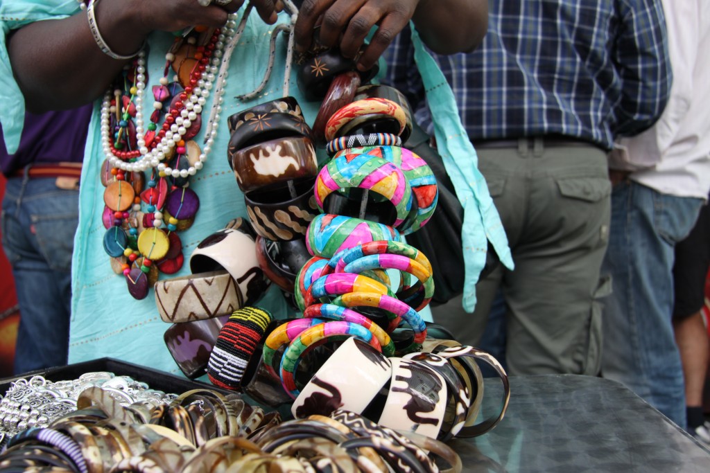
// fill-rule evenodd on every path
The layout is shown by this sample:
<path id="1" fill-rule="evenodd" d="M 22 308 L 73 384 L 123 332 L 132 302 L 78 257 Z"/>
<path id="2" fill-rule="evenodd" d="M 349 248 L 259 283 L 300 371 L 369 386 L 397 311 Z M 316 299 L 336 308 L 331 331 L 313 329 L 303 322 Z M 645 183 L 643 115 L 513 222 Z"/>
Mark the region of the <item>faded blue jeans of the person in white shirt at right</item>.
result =
<path id="1" fill-rule="evenodd" d="M 685 391 L 672 327 L 676 243 L 692 230 L 701 199 L 675 197 L 635 182 L 613 188 L 611 235 L 602 274 L 603 377 L 629 389 L 685 427 Z"/>

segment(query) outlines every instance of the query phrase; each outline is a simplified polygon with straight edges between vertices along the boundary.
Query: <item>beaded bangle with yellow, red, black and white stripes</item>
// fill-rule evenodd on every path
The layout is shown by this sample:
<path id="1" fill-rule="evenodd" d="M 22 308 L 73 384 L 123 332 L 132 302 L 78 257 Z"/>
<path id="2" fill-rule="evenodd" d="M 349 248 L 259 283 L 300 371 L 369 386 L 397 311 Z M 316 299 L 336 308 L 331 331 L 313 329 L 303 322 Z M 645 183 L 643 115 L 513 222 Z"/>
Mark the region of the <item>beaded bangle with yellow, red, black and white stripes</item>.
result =
<path id="1" fill-rule="evenodd" d="M 235 311 L 222 330 L 209 355 L 207 377 L 215 386 L 239 389 L 247 366 L 253 363 L 258 345 L 263 343 L 266 329 L 273 320 L 271 313 L 256 307 Z"/>

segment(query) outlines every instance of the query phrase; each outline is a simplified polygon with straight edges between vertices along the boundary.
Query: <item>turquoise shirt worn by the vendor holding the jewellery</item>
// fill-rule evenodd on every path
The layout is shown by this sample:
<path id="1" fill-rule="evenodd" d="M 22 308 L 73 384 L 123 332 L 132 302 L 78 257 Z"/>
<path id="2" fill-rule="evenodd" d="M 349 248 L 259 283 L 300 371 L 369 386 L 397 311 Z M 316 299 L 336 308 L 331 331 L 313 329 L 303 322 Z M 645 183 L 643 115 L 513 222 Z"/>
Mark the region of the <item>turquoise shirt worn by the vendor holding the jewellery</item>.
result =
<path id="1" fill-rule="evenodd" d="M 6 144 L 10 150 L 16 147 L 21 134 L 24 107 L 21 93 L 11 73 L 5 35 L 10 30 L 20 28 L 33 21 L 47 18 L 63 18 L 77 13 L 78 10 L 78 4 L 75 0 L 20 0 L 0 3 L 0 25 L 4 32 L 4 35 L 0 38 L 0 67 L 2 67 L 0 70 L 0 103 L 16 104 L 19 102 L 21 104 L 21 106 L 17 107 L 2 106 L 0 108 L 0 122 L 4 129 Z M 279 21 L 288 21 L 288 16 L 282 13 L 279 16 Z M 179 234 L 182 240 L 183 254 L 185 255 L 185 265 L 178 274 L 171 277 L 190 273 L 187 265 L 189 255 L 207 235 L 224 228 L 226 223 L 233 218 L 240 216 L 246 218 L 244 197 L 239 191 L 234 174 L 229 169 L 226 161 L 226 148 L 229 141 L 226 118 L 249 106 L 278 99 L 285 95 L 283 90 L 285 67 L 283 65 L 285 65 L 286 37 L 285 35 L 280 35 L 276 43 L 275 67 L 266 88 L 251 101 L 235 99 L 235 96 L 252 91 L 261 83 L 263 73 L 267 69 L 268 43 L 272 30 L 273 26 L 263 23 L 258 15 L 251 14 L 244 34 L 239 40 L 239 45 L 237 45 L 231 57 L 229 77 L 220 115 L 221 120 L 219 121 L 219 129 L 213 150 L 207 162 L 205 162 L 204 168 L 190 179 L 190 188 L 200 196 L 200 211 L 197 213 L 192 227 Z M 168 51 L 172 42 L 173 35 L 170 35 L 170 33 L 154 32 L 148 38 L 148 43 L 151 45 L 147 65 L 148 90 L 157 82 L 158 78 L 162 77 L 165 52 Z M 422 48 L 420 48 L 420 52 L 428 55 Z M 425 69 L 428 71 L 430 65 L 425 65 Z M 435 72 L 438 72 L 438 69 Z M 428 76 L 425 74 L 428 74 Z M 432 80 L 436 80 L 436 74 L 432 76 L 432 74 L 422 70 L 422 75 L 434 77 Z M 295 79 L 294 73 L 293 77 L 290 78 L 288 95 L 295 96 L 302 107 L 306 120 L 308 123 L 312 123 L 320 104 L 305 101 Z M 448 89 L 448 86 L 446 88 Z M 437 89 L 441 89 L 441 87 L 437 87 Z M 211 94 L 207 100 L 207 106 L 204 108 L 202 115 L 204 125 L 200 135 L 195 138 L 197 143 L 202 143 L 202 133 L 204 133 L 204 128 L 206 128 L 209 108 L 212 106 L 213 98 L 214 96 Z M 104 156 L 101 150 L 99 134 L 99 108 L 100 100 L 95 104 L 92 122 L 89 124 L 89 130 L 93 130 L 93 133 L 87 137 L 84 167 L 82 169 L 79 228 L 75 236 L 75 250 L 72 260 L 73 293 L 69 362 L 82 362 L 97 357 L 114 357 L 127 362 L 180 374 L 180 369 L 175 364 L 163 342 L 163 333 L 165 333 L 169 325 L 161 321 L 158 316 L 158 311 L 155 309 L 153 291 L 142 301 L 133 299 L 128 294 L 123 275 L 119 276 L 113 272 L 109 257 L 103 249 L 103 238 L 106 232 L 102 222 L 104 187 L 99 180 L 99 168 L 104 161 Z M 435 111 L 435 119 L 437 115 L 439 115 L 439 111 Z M 457 117 L 455 106 L 452 111 L 447 111 L 446 116 L 449 116 L 449 119 L 446 119 L 445 123 L 449 126 L 452 117 Z M 454 121 L 458 122 L 458 119 L 456 118 Z M 458 122 L 458 126 L 461 126 L 460 122 Z M 454 131 L 453 128 L 450 128 L 450 130 Z M 456 135 L 456 133 L 458 132 L 454 131 L 451 135 Z M 442 146 L 447 150 L 442 155 L 444 155 L 444 164 L 447 165 L 447 169 L 450 171 L 449 167 L 452 166 L 451 157 L 461 152 L 457 148 L 460 145 L 452 146 L 450 140 L 440 138 L 438 133 L 437 139 L 439 143 L 444 143 Z M 441 152 L 441 150 L 439 151 Z M 475 284 L 483 267 L 486 234 L 497 235 L 496 228 L 500 226 L 500 221 L 494 221 L 490 230 L 484 230 L 483 223 L 487 222 L 486 216 L 490 220 L 491 208 L 495 211 L 491 198 L 488 196 L 485 182 L 483 182 L 481 187 L 481 181 L 475 174 L 477 172 L 475 162 L 469 165 L 462 164 L 461 172 L 467 174 L 461 174 L 457 179 L 454 179 L 454 175 L 452 175 L 452 180 L 454 180 L 455 185 L 458 184 L 457 193 L 459 193 L 459 196 L 463 196 L 462 201 L 464 201 L 466 208 L 466 224 L 471 224 L 470 230 L 467 228 L 464 231 L 464 243 L 470 242 L 471 235 L 475 235 L 477 247 L 484 249 L 482 253 L 477 248 L 474 252 L 469 251 L 467 253 L 468 255 L 483 256 L 483 260 L 480 258 L 468 258 L 466 260 L 468 300 L 471 301 L 470 282 L 473 281 Z M 470 179 L 469 182 L 475 184 L 473 191 L 467 192 L 464 189 L 469 186 L 469 184 L 466 184 L 466 179 Z M 462 186 L 461 192 L 459 192 L 459 186 Z M 483 190 L 485 191 L 484 197 L 487 197 L 487 200 L 480 199 L 480 194 Z M 479 199 L 476 199 L 476 196 L 479 196 Z M 490 205 L 486 206 L 486 204 Z M 483 209 L 484 213 L 481 213 L 479 208 Z M 494 213 L 497 218 L 497 212 Z M 493 220 L 496 219 L 494 218 Z M 478 230 L 473 228 L 474 226 Z M 505 235 L 502 234 L 502 236 L 503 240 L 505 240 Z M 483 239 L 482 242 L 480 241 L 481 238 Z M 500 244 L 496 246 L 496 250 L 498 250 L 499 255 L 502 255 L 502 259 L 505 262 L 506 252 L 501 252 L 499 250 L 500 246 Z M 507 242 L 505 242 L 505 249 L 507 250 Z M 510 253 L 508 252 L 507 254 L 509 258 Z M 165 276 L 163 275 L 161 279 L 165 279 Z M 278 293 L 278 288 L 275 285 L 272 285 L 266 297 L 258 305 L 271 311 L 279 318 L 295 315 L 285 304 L 283 296 Z M 430 320 L 428 309 L 424 316 Z M 48 314 L 48 323 L 51 323 L 50 317 L 51 314 Z"/>

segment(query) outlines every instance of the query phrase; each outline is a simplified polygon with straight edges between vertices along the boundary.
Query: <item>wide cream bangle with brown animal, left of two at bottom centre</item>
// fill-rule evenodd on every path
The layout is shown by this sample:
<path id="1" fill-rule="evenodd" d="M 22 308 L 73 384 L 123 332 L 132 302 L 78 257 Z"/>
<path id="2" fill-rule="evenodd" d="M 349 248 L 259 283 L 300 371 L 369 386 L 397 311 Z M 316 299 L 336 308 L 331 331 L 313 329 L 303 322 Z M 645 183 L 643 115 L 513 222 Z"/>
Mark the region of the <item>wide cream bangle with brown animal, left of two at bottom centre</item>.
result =
<path id="1" fill-rule="evenodd" d="M 381 352 L 350 337 L 303 386 L 291 413 L 295 418 L 329 416 L 337 408 L 362 413 L 391 376 L 390 363 Z"/>

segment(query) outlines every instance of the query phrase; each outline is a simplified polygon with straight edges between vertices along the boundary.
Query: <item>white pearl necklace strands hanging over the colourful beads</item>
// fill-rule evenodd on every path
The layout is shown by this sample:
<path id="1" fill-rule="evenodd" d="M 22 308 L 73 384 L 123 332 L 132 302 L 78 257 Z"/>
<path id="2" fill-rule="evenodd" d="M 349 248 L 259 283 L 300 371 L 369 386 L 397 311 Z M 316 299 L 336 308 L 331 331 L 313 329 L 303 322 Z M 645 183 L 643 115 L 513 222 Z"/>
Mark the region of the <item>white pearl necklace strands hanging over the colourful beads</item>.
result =
<path id="1" fill-rule="evenodd" d="M 197 174 L 197 171 L 202 169 L 204 162 L 207 161 L 209 152 L 212 151 L 214 140 L 217 138 L 219 112 L 222 111 L 220 104 L 222 104 L 222 96 L 224 95 L 224 89 L 222 87 L 219 87 L 214 93 L 214 107 L 217 108 L 217 114 L 214 123 L 212 123 L 212 128 L 209 130 L 209 136 L 206 137 L 207 139 L 205 140 L 202 152 L 200 152 L 200 157 L 197 162 L 195 162 L 195 165 L 187 169 L 171 169 L 162 161 L 165 159 L 165 155 L 170 153 L 170 151 L 175 148 L 176 143 L 187 133 L 187 129 L 192 125 L 192 121 L 197 118 L 197 114 L 202 113 L 202 108 L 207 103 L 207 98 L 212 90 L 216 74 L 219 71 L 219 65 L 222 63 L 222 50 L 224 49 L 224 45 L 229 42 L 229 39 L 234 35 L 236 26 L 235 18 L 236 14 L 233 13 L 229 15 L 229 20 L 222 29 L 222 33 L 219 34 L 217 43 L 214 45 L 214 52 L 212 52 L 210 63 L 202 72 L 200 79 L 197 81 L 197 86 L 192 89 L 192 94 L 189 99 L 185 101 L 185 107 L 180 111 L 180 116 L 175 117 L 175 122 L 170 125 L 170 128 L 166 130 L 163 138 L 152 150 L 149 150 L 146 146 L 145 121 L 143 118 L 143 103 L 146 90 L 146 52 L 145 50 L 138 52 L 136 96 L 133 98 L 133 101 L 136 104 L 136 140 L 141 156 L 138 157 L 138 160 L 135 162 L 125 162 L 119 157 L 116 157 L 111 151 L 111 141 L 109 139 L 111 136 L 111 98 L 116 94 L 116 91 L 108 90 L 104 95 L 101 106 L 101 142 L 104 156 L 109 160 L 111 167 L 117 167 L 128 172 L 145 171 L 148 168 L 156 167 L 158 171 L 163 172 L 166 176 L 170 175 L 172 177 L 183 178 L 194 176 Z M 170 55 L 172 54 L 168 52 L 166 55 L 167 60 L 170 60 Z M 167 79 L 162 77 L 160 83 L 163 85 L 167 84 Z M 118 96 L 120 96 L 121 92 L 117 92 Z M 154 107 L 158 108 L 158 104 L 160 104 L 160 102 L 155 102 Z M 116 103 L 116 106 L 121 106 L 121 104 Z M 160 106 L 162 106 L 162 104 L 160 104 Z"/>

